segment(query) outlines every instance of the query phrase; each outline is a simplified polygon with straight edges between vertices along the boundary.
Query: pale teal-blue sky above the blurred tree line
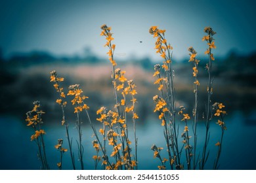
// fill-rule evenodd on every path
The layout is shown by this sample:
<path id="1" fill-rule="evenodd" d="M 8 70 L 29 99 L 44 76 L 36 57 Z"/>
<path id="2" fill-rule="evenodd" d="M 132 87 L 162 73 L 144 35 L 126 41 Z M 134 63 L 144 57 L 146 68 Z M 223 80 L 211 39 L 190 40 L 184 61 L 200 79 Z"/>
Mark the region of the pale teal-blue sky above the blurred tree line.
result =
<path id="1" fill-rule="evenodd" d="M 158 25 L 166 29 L 173 57 L 186 58 L 189 46 L 203 54 L 203 28 L 211 26 L 217 32 L 216 55 L 225 56 L 230 50 L 249 54 L 256 50 L 255 18 L 255 5 L 247 0 L 1 0 L 0 47 L 5 57 L 32 50 L 83 56 L 85 47 L 104 57 L 108 50 L 100 25 L 107 24 L 114 33 L 117 58 L 155 59 L 159 56 L 148 29 Z"/>

